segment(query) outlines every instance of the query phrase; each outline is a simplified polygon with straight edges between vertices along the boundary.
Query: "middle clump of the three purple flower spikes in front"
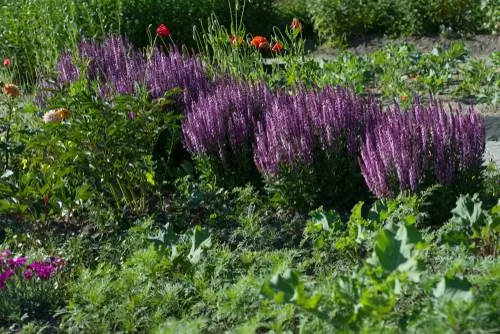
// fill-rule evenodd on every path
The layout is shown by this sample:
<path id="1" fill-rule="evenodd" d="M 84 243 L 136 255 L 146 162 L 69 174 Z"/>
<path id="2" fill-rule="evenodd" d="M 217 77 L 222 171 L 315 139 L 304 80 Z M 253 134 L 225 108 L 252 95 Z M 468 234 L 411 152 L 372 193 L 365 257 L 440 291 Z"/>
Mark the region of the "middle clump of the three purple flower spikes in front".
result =
<path id="1" fill-rule="evenodd" d="M 369 113 L 362 99 L 347 89 L 299 89 L 294 95 L 273 95 L 258 123 L 254 162 L 264 175 L 282 166 L 314 163 L 318 152 L 334 158 L 358 153 L 359 136 Z"/>

